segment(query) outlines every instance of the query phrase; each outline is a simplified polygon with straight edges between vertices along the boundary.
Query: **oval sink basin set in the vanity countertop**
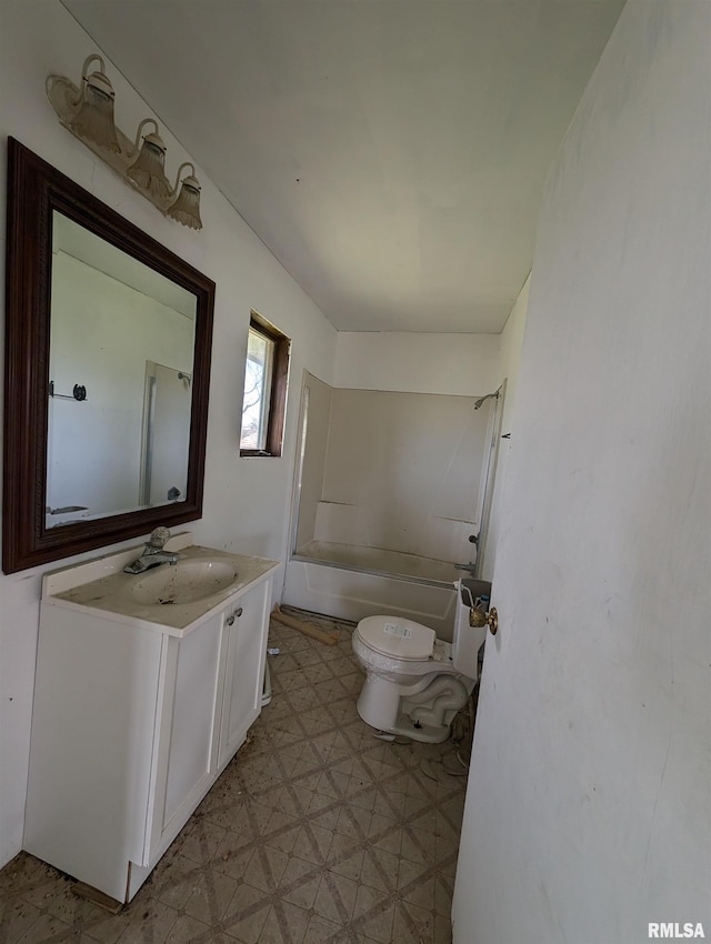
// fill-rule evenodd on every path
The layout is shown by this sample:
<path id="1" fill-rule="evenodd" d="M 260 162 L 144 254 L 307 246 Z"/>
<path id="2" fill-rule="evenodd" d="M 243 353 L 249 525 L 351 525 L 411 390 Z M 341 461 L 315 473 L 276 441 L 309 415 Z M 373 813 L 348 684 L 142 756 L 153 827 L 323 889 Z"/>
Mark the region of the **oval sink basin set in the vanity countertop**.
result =
<path id="1" fill-rule="evenodd" d="M 160 564 L 137 580 L 130 595 L 138 603 L 197 603 L 227 590 L 238 578 L 230 561 L 202 559 Z"/>

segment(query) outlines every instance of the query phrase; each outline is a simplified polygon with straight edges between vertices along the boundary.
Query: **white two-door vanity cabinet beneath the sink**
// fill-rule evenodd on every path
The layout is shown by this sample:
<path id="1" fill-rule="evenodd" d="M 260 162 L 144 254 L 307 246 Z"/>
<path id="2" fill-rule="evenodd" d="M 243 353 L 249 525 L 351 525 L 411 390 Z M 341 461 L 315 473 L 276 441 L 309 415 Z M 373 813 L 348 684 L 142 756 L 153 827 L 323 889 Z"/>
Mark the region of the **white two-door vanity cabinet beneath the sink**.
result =
<path id="1" fill-rule="evenodd" d="M 240 558 L 246 576 L 219 600 L 153 607 L 153 619 L 97 592 L 121 585 L 117 570 L 63 590 L 46 578 L 28 852 L 133 897 L 259 715 L 277 566 Z"/>

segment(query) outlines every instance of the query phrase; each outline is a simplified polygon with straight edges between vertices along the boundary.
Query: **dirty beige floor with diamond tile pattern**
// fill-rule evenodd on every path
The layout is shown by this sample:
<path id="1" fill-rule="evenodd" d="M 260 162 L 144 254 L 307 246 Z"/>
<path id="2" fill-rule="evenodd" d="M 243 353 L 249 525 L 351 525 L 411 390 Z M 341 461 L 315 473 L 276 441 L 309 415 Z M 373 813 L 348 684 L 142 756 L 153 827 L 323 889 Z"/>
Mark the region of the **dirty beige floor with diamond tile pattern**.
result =
<path id="1" fill-rule="evenodd" d="M 20 853 L 0 871 L 0 944 L 451 941 L 457 745 L 379 741 L 356 712 L 352 625 L 318 622 L 338 645 L 272 620 L 272 700 L 131 904 L 112 915 Z"/>

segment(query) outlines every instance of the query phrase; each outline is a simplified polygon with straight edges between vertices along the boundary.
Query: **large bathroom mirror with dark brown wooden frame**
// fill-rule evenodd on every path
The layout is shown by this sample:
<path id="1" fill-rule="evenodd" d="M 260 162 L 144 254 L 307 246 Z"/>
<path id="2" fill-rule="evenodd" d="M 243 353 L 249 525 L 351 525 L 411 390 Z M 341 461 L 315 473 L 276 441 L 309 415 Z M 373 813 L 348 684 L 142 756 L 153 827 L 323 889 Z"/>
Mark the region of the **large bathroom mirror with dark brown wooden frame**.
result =
<path id="1" fill-rule="evenodd" d="M 200 518 L 214 283 L 9 140 L 6 573 Z"/>

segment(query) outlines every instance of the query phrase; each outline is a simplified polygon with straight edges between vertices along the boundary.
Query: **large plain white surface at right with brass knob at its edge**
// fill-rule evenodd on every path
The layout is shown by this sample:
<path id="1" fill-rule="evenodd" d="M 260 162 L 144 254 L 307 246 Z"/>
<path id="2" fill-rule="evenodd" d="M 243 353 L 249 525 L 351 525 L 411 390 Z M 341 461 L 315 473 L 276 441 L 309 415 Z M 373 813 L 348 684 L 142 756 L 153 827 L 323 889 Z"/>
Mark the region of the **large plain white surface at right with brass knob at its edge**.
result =
<path id="1" fill-rule="evenodd" d="M 629 0 L 547 188 L 458 944 L 711 935 L 710 18 Z"/>

